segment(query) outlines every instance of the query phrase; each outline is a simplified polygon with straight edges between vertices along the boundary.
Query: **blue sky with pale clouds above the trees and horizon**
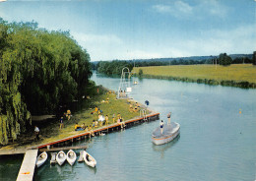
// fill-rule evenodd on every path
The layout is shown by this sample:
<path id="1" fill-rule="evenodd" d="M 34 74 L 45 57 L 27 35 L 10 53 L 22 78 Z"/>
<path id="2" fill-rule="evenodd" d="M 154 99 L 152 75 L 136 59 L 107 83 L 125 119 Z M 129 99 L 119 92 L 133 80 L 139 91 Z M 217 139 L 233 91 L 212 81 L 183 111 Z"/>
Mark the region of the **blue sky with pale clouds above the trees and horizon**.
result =
<path id="1" fill-rule="evenodd" d="M 92 61 L 256 51 L 255 0 L 7 0 L 0 17 L 69 30 Z"/>

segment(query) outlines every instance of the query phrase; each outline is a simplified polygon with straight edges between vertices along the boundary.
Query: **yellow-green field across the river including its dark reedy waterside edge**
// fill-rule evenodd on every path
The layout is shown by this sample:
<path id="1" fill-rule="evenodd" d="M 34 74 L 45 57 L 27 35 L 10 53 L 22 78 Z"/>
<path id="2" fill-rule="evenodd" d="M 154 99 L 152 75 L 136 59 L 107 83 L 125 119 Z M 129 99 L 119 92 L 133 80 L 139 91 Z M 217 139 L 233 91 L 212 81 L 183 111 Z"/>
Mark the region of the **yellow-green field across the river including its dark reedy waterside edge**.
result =
<path id="1" fill-rule="evenodd" d="M 256 66 L 252 64 L 135 67 L 133 72 L 138 75 L 140 69 L 144 78 L 256 88 Z"/>

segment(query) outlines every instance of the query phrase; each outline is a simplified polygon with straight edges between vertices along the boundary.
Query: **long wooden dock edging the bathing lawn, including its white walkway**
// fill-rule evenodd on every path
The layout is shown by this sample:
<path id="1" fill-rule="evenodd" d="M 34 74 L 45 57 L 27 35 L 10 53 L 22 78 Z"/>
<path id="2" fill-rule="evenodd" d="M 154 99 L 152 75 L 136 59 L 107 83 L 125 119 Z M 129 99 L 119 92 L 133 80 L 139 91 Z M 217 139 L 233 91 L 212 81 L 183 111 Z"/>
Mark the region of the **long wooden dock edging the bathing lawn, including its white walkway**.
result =
<path id="1" fill-rule="evenodd" d="M 160 118 L 160 113 L 155 112 L 155 113 L 140 116 L 134 119 L 126 120 L 124 121 L 126 126 L 125 128 L 129 128 L 131 126 L 144 123 L 144 122 L 158 120 L 159 118 Z M 109 125 L 100 127 L 98 129 L 95 129 L 93 130 L 93 132 L 95 136 L 98 136 L 101 133 L 111 133 L 113 131 L 118 131 L 121 129 L 123 129 L 121 123 L 113 123 L 113 124 L 109 124 Z M 17 177 L 17 181 L 32 181 L 38 151 L 86 150 L 87 149 L 86 146 L 67 147 L 67 145 L 70 145 L 70 144 L 72 145 L 72 143 L 75 141 L 80 141 L 80 140 L 89 138 L 91 137 L 91 133 L 90 131 L 88 132 L 81 131 L 81 134 L 60 139 L 51 143 L 33 146 L 27 149 L 13 150 L 13 151 L 0 151 L 0 155 L 25 153 L 24 160 Z"/>

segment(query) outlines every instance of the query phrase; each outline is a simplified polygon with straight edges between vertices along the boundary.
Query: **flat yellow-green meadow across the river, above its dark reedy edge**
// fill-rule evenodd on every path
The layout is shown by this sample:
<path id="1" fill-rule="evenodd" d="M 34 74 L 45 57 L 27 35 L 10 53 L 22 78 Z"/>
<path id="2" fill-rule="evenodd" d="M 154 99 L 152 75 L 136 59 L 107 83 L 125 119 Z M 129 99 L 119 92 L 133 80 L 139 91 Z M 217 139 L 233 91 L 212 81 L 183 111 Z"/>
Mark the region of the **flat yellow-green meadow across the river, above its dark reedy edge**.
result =
<path id="1" fill-rule="evenodd" d="M 143 76 L 188 78 L 194 81 L 207 79 L 219 83 L 222 81 L 256 83 L 256 66 L 252 64 L 135 67 L 133 72 L 138 74 L 140 69 L 143 70 Z"/>

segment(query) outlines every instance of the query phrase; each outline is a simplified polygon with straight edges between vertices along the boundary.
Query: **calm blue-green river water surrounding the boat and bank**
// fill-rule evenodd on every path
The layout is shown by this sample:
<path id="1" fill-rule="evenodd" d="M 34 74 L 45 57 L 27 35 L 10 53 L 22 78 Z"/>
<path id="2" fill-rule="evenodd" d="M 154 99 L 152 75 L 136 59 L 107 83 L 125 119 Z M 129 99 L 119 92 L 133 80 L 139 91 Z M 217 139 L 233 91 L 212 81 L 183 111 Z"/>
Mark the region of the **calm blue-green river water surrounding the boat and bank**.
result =
<path id="1" fill-rule="evenodd" d="M 92 80 L 114 91 L 120 81 L 98 74 Z M 160 123 L 144 123 L 77 143 L 88 146 L 96 168 L 78 162 L 73 167 L 50 166 L 47 160 L 34 180 L 256 180 L 256 90 L 138 81 L 131 96 L 142 103 L 149 100 L 164 121 L 171 111 L 171 120 L 181 126 L 177 139 L 155 146 L 151 134 Z M 21 158 L 15 163 L 10 159 L 1 159 L 0 180 L 15 180 L 19 172 Z M 14 169 L 4 169 L 5 163 Z"/>

